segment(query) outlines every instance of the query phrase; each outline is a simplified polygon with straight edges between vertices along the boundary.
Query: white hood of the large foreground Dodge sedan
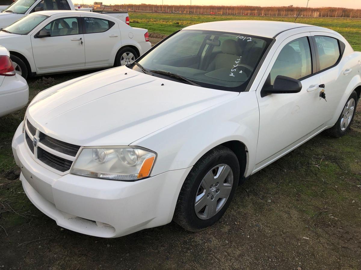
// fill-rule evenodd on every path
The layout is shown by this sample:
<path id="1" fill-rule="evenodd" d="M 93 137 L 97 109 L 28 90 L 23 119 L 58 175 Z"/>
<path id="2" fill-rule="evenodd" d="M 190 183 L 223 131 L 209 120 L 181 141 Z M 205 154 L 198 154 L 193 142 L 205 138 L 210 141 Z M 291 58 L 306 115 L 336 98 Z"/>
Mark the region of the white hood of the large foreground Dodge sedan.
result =
<path id="1" fill-rule="evenodd" d="M 40 131 L 67 143 L 129 145 L 238 94 L 118 67 L 40 92 L 27 118 Z"/>

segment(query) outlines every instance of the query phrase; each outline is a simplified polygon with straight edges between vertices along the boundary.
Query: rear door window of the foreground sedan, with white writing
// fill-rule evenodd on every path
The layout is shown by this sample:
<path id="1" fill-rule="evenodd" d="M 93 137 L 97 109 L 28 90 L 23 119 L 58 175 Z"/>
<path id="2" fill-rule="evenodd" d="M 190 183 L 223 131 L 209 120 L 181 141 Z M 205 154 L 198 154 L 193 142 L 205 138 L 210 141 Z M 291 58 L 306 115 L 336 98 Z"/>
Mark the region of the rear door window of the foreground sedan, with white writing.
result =
<path id="1" fill-rule="evenodd" d="M 333 66 L 340 57 L 338 40 L 332 37 L 315 36 L 320 70 Z"/>

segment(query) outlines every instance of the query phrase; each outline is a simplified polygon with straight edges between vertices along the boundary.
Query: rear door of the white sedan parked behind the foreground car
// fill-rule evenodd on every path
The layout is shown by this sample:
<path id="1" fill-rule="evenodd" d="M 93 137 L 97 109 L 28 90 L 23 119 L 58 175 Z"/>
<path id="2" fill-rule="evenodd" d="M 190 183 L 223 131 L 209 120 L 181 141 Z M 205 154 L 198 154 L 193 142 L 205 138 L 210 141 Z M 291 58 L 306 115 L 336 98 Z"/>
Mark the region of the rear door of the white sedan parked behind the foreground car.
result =
<path id="1" fill-rule="evenodd" d="M 82 16 L 81 19 L 85 42 L 85 65 L 114 64 L 116 53 L 114 50 L 122 46 L 118 24 L 96 17 Z"/>

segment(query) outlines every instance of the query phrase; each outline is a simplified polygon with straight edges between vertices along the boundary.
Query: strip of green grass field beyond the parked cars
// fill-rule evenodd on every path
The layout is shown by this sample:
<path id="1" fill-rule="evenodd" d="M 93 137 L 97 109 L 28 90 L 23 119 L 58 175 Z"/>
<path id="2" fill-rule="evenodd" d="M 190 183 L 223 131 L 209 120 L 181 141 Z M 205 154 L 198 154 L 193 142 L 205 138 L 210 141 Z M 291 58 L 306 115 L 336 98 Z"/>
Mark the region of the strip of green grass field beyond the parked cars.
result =
<path id="1" fill-rule="evenodd" d="M 160 13 L 130 13 L 130 25 L 147 28 L 149 32 L 169 35 L 178 29 L 196 23 L 226 21 L 226 20 L 267 20 L 293 22 L 295 17 L 261 17 L 232 15 L 201 15 L 201 14 L 160 14 Z M 361 19 L 341 18 L 297 18 L 298 23 L 327 27 L 339 32 L 348 40 L 352 48 L 361 51 Z"/>

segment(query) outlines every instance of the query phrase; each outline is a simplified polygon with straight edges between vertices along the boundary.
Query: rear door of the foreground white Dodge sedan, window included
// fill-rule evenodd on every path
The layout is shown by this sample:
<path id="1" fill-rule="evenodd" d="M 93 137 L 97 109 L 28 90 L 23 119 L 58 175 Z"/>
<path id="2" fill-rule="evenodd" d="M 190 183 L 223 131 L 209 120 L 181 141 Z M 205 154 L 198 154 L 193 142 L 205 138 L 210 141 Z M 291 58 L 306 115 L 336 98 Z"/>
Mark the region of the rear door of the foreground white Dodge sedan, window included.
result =
<path id="1" fill-rule="evenodd" d="M 352 74 L 357 71 L 352 70 L 351 59 L 340 60 L 345 45 L 338 40 L 337 35 L 324 32 L 312 32 L 311 35 L 318 52 L 317 64 L 321 84 L 325 84 L 327 104 L 321 113 L 327 120 L 331 120 Z"/>

